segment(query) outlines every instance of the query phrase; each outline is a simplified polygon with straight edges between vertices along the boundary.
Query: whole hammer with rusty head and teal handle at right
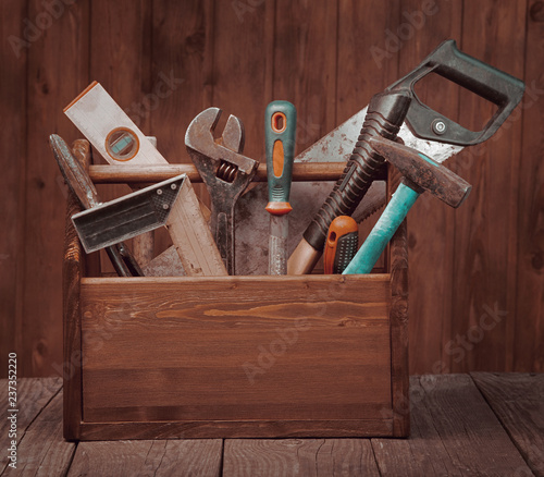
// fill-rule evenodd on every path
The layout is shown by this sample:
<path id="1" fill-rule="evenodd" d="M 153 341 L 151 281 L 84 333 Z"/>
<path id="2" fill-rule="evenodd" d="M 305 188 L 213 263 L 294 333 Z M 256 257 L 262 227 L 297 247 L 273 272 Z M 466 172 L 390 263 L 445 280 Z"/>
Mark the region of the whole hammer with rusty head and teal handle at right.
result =
<path id="1" fill-rule="evenodd" d="M 395 166 L 403 179 L 384 212 L 344 270 L 344 274 L 370 273 L 385 246 L 407 216 L 411 206 L 425 191 L 450 207 L 459 207 L 472 186 L 429 156 L 381 136 L 369 139 L 380 156 Z"/>

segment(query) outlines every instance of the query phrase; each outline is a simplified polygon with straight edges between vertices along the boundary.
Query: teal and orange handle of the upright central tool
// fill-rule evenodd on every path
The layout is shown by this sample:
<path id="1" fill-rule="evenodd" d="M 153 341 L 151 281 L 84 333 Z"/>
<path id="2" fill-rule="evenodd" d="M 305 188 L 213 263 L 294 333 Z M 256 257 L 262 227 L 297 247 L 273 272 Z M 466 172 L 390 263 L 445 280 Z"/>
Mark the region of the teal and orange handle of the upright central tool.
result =
<path id="1" fill-rule="evenodd" d="M 289 193 L 295 158 L 297 110 L 289 101 L 272 101 L 264 112 L 264 146 L 269 204 L 275 216 L 290 211 Z"/>

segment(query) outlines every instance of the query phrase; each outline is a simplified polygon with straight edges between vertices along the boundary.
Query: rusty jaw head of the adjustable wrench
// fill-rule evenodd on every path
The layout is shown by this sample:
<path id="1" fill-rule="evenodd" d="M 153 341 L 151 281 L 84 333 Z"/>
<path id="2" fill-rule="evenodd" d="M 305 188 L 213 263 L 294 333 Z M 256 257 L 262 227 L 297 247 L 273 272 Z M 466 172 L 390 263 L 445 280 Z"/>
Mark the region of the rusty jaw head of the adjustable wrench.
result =
<path id="1" fill-rule="evenodd" d="M 187 129 L 185 146 L 208 187 L 221 187 L 238 195 L 251 182 L 259 162 L 240 154 L 244 126 L 238 118 L 231 114 L 221 139 L 213 139 L 220 117 L 219 108 L 208 108 L 198 114 Z"/>

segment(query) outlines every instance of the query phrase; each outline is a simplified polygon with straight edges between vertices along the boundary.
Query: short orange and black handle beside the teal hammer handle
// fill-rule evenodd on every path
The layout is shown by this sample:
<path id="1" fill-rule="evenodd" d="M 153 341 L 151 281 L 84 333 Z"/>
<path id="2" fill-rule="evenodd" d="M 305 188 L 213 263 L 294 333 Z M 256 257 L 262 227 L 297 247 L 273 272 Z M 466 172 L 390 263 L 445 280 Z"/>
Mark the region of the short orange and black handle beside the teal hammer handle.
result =
<path id="1" fill-rule="evenodd" d="M 353 217 L 338 216 L 331 222 L 323 253 L 324 273 L 342 273 L 357 254 L 359 228 Z"/>

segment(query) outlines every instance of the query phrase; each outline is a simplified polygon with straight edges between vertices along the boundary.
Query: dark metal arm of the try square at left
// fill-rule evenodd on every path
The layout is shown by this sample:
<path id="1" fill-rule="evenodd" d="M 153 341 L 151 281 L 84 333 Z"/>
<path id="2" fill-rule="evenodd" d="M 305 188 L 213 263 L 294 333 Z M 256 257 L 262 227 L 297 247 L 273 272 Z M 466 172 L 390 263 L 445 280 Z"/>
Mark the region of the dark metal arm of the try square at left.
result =
<path id="1" fill-rule="evenodd" d="M 186 174 L 72 216 L 87 254 L 158 229 L 166 220 Z"/>

